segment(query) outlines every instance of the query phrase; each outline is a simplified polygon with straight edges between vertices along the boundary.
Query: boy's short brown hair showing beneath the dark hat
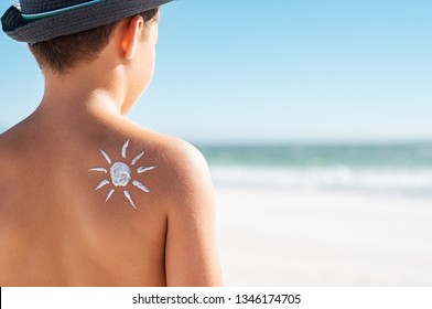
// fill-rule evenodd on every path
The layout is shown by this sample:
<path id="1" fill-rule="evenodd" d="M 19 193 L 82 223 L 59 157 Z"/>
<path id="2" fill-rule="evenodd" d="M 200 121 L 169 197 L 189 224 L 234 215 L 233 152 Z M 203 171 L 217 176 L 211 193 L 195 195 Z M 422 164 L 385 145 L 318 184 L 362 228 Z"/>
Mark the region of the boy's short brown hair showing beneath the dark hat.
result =
<path id="1" fill-rule="evenodd" d="M 141 13 L 144 26 L 155 20 L 159 9 Z M 40 67 L 64 74 L 79 62 L 90 62 L 108 45 L 119 22 L 101 25 L 72 35 L 29 45 Z M 147 30 L 144 31 L 147 33 Z"/>

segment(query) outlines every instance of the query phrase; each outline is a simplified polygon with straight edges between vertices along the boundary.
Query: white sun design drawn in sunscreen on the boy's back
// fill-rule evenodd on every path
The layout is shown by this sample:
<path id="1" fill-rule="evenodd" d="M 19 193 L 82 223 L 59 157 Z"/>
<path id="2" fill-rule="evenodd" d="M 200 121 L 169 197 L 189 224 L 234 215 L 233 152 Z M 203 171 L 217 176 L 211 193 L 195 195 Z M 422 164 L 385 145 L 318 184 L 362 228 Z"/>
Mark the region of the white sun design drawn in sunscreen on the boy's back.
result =
<path id="1" fill-rule="evenodd" d="M 127 150 L 129 147 L 129 140 L 127 142 L 125 142 L 123 147 L 121 148 L 121 157 L 123 159 L 126 159 L 126 154 L 127 154 Z M 104 150 L 100 149 L 100 152 L 102 153 L 105 160 L 107 160 L 108 164 L 110 166 L 109 168 L 109 174 L 111 178 L 111 182 L 107 179 L 102 180 L 98 187 L 96 187 L 95 191 L 98 191 L 99 189 L 104 188 L 105 185 L 112 183 L 115 188 L 119 188 L 120 190 L 123 191 L 125 196 L 128 199 L 128 201 L 130 202 L 130 204 L 132 205 L 132 207 L 137 209 L 133 200 L 132 200 L 132 195 L 130 194 L 130 192 L 128 190 L 126 190 L 125 188 L 129 184 L 129 182 L 132 179 L 132 170 L 131 168 L 125 163 L 125 162 L 115 162 L 112 163 L 111 158 L 108 156 L 107 152 L 105 152 Z M 137 157 L 133 158 L 133 160 L 130 162 L 131 166 L 134 166 L 141 158 L 142 156 L 144 156 L 144 151 L 141 151 Z M 154 170 L 155 168 L 158 168 L 158 166 L 154 167 L 140 167 L 137 169 L 137 173 L 141 174 L 151 170 Z M 108 170 L 105 168 L 93 168 L 89 169 L 89 171 L 96 171 L 96 172 L 104 172 L 106 174 L 108 174 Z M 144 191 L 145 193 L 149 193 L 150 190 L 142 184 L 140 181 L 138 180 L 132 180 L 132 184 L 134 187 L 137 187 L 138 189 L 140 189 L 141 191 Z M 105 202 L 108 202 L 108 200 L 112 196 L 112 194 L 116 192 L 116 189 L 110 189 L 108 194 L 107 194 L 107 199 L 105 200 Z"/>

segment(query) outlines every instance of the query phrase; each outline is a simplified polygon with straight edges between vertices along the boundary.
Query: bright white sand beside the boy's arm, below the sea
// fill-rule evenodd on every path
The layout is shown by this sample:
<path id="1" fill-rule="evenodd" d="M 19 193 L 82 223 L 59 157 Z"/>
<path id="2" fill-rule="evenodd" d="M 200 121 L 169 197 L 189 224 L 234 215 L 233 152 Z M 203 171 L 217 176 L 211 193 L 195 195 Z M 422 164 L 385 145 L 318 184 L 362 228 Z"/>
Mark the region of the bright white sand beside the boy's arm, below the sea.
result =
<path id="1" fill-rule="evenodd" d="M 432 199 L 216 185 L 227 286 L 432 286 Z"/>

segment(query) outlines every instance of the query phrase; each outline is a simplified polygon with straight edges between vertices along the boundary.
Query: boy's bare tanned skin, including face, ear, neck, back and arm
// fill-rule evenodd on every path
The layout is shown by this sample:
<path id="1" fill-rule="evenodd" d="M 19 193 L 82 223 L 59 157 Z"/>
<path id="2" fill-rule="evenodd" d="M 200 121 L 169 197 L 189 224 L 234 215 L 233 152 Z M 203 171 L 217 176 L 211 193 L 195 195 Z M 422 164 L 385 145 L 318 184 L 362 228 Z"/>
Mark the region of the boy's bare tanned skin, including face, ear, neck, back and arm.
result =
<path id="1" fill-rule="evenodd" d="M 123 116 L 152 78 L 156 42 L 158 22 L 144 33 L 140 15 L 121 21 L 97 60 L 44 68 L 39 108 L 0 136 L 0 286 L 222 285 L 205 159 Z M 127 140 L 130 167 L 143 150 L 137 166 L 156 167 L 132 171 L 150 192 L 125 187 L 137 209 L 120 193 L 106 202 L 104 172 L 89 171 L 109 169 L 100 149 L 125 160 Z"/>

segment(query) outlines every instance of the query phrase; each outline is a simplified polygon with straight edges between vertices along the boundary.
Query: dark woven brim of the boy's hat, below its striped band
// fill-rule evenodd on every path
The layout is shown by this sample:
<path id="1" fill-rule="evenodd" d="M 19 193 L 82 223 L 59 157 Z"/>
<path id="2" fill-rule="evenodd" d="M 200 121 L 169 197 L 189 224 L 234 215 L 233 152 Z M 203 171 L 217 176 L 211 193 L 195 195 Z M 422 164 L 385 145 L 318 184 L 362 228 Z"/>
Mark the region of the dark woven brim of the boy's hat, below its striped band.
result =
<path id="1" fill-rule="evenodd" d="M 31 22 L 22 18 L 20 10 L 11 7 L 1 22 L 3 31 L 10 38 L 34 44 L 106 25 L 171 1 L 173 0 L 108 0 Z"/>

